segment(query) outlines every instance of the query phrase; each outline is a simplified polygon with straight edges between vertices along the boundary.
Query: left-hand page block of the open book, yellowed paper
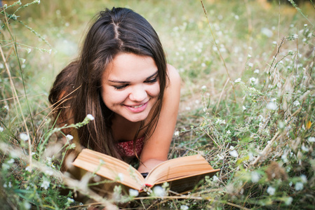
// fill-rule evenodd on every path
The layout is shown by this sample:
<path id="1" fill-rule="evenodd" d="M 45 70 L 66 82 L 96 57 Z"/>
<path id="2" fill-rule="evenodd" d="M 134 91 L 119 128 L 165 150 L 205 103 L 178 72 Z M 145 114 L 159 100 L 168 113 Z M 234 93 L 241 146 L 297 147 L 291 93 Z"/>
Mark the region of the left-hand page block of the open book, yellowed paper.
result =
<path id="1" fill-rule="evenodd" d="M 140 172 L 126 162 L 89 149 L 83 149 L 72 165 L 136 190 L 141 190 L 145 181 Z"/>

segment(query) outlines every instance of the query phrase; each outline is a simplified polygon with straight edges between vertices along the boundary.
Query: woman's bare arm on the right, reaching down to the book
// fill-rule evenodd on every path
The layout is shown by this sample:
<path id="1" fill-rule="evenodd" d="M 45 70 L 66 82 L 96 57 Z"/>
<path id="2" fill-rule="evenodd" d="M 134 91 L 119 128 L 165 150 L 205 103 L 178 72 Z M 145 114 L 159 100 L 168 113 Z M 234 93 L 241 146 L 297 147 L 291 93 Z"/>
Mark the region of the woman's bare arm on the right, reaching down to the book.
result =
<path id="1" fill-rule="evenodd" d="M 170 142 L 175 130 L 180 104 L 180 75 L 168 64 L 170 83 L 166 87 L 159 122 L 152 136 L 145 142 L 141 156 L 140 173 L 150 172 L 156 165 L 168 159 Z"/>

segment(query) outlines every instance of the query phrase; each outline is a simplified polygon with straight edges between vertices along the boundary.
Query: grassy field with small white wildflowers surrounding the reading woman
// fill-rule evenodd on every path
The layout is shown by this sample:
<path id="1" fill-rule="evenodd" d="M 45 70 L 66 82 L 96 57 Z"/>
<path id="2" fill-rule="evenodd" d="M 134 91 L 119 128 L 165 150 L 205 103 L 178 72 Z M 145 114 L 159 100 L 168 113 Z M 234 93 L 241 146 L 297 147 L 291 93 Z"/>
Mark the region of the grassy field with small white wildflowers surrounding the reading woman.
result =
<path id="1" fill-rule="evenodd" d="M 282 1 L 281 1 L 282 2 Z M 128 7 L 159 34 L 182 77 L 170 158 L 202 154 L 220 173 L 187 195 L 87 195 L 113 209 L 314 209 L 315 8 L 264 1 L 3 1 L 2 209 L 84 209 L 61 195 L 62 148 L 48 92 L 102 8 Z M 206 14 L 205 14 L 206 13 Z M 29 155 L 31 154 L 31 155 Z M 76 190 L 84 193 L 83 182 Z"/>

